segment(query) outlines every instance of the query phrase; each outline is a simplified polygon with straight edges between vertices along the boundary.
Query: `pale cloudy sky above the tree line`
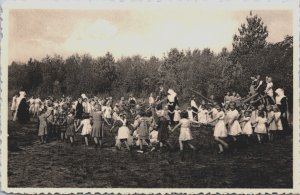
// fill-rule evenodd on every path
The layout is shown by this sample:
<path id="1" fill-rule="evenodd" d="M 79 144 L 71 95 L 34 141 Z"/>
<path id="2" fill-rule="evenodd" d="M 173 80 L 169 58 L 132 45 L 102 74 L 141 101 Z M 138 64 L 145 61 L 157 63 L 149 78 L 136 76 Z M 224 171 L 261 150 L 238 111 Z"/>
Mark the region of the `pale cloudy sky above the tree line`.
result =
<path id="1" fill-rule="evenodd" d="M 27 62 L 58 54 L 163 57 L 171 48 L 232 49 L 232 37 L 250 10 L 199 8 L 63 10 L 9 12 L 8 60 Z M 293 35 L 289 10 L 252 10 L 267 25 L 268 42 Z"/>

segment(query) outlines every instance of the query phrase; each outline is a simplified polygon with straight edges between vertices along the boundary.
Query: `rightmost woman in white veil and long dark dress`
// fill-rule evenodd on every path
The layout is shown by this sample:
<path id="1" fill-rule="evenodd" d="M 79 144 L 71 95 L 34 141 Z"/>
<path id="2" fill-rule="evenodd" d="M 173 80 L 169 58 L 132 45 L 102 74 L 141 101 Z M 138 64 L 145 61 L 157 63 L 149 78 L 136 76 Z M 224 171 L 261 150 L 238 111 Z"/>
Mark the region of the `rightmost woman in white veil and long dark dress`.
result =
<path id="1" fill-rule="evenodd" d="M 275 93 L 276 98 L 276 105 L 278 106 L 280 112 L 281 112 L 281 123 L 283 127 L 283 136 L 287 135 L 290 131 L 289 122 L 288 122 L 288 103 L 287 103 L 287 97 L 284 95 L 283 89 L 276 89 Z"/>

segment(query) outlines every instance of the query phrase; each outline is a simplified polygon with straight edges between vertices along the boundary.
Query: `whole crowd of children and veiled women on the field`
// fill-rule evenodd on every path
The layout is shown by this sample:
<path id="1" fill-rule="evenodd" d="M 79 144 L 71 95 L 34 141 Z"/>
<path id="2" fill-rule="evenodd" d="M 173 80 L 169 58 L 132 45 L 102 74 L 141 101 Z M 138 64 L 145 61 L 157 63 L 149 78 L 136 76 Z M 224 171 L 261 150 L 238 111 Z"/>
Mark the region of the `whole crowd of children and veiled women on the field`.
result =
<path id="1" fill-rule="evenodd" d="M 211 126 L 219 153 L 223 153 L 237 147 L 234 143 L 241 136 L 249 145 L 253 140 L 272 142 L 289 132 L 284 90 L 276 89 L 274 96 L 271 77 L 266 77 L 265 81 L 259 75 L 251 79 L 249 95 L 244 98 L 236 92 L 228 92 L 223 102 L 202 98 L 198 105 L 199 99 L 192 95 L 187 109 L 180 107 L 174 90 L 165 92 L 163 86 L 156 97 L 151 93 L 148 99 L 137 100 L 130 95 L 119 101 L 112 97 L 88 98 L 85 94 L 75 100 L 70 96 L 44 100 L 33 96 L 26 100 L 26 93 L 21 91 L 12 99 L 12 118 L 22 124 L 30 117 L 38 118 L 41 144 L 56 138 L 73 146 L 76 135 L 80 134 L 86 147 L 90 147 L 92 141 L 96 148 L 101 148 L 103 137 L 110 134 L 118 150 L 136 147 L 139 153 L 172 150 L 169 136 L 179 129 L 182 159 L 185 145 L 196 151 L 191 143 L 191 128 L 201 130 L 202 126 Z"/>

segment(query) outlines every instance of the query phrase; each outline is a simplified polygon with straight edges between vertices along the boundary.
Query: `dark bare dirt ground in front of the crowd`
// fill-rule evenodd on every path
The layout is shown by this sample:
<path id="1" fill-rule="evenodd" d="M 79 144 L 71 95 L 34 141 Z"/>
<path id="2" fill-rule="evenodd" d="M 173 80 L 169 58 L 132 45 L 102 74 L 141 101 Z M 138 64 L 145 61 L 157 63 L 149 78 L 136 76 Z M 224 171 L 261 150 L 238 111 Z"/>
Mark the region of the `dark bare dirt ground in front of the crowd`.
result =
<path id="1" fill-rule="evenodd" d="M 80 136 L 75 146 L 51 141 L 41 145 L 37 122 L 21 126 L 8 122 L 9 187 L 126 187 L 126 188 L 292 188 L 292 138 L 273 143 L 253 143 L 248 148 L 217 154 L 212 129 L 194 128 L 198 151 L 180 161 L 178 134 L 170 142 L 172 152 L 137 153 L 111 147 L 106 134 L 104 148 L 86 148 Z"/>

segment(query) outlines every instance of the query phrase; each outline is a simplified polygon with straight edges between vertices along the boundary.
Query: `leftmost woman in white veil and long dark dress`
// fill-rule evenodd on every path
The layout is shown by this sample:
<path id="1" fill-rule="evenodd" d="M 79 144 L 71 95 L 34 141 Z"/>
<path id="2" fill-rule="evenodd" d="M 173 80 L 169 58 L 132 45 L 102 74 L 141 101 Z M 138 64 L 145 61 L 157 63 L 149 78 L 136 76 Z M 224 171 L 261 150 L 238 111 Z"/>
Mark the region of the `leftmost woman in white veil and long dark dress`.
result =
<path id="1" fill-rule="evenodd" d="M 30 120 L 30 115 L 29 115 L 29 105 L 27 104 L 26 101 L 26 93 L 25 91 L 20 91 L 20 97 L 19 97 L 19 104 L 18 104 L 18 109 L 17 109 L 17 117 L 18 121 L 21 124 L 25 124 Z"/>

